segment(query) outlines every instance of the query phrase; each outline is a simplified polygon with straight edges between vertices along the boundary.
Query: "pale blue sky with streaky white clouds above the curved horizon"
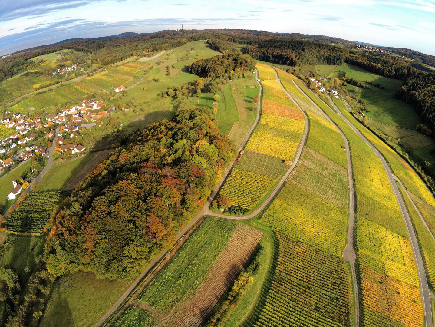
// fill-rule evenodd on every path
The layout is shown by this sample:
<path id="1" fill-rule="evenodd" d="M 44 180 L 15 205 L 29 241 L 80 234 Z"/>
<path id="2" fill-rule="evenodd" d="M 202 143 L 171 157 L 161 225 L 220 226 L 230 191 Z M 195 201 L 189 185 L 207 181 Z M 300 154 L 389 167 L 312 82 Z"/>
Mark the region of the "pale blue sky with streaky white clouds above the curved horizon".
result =
<path id="1" fill-rule="evenodd" d="M 0 0 L 0 55 L 167 29 L 321 34 L 435 55 L 435 0 Z"/>

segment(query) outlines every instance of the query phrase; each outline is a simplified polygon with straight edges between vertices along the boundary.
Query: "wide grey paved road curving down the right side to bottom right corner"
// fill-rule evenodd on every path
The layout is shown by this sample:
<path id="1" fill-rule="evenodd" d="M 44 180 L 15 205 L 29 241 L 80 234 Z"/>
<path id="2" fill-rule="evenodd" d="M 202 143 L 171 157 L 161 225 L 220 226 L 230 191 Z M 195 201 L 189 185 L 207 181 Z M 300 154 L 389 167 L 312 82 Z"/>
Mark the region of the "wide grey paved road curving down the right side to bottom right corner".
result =
<path id="1" fill-rule="evenodd" d="M 397 187 L 397 184 L 395 182 L 395 177 L 390 167 L 388 167 L 387 161 L 382 157 L 381 153 L 379 153 L 378 149 L 376 149 L 366 138 L 364 135 L 360 133 L 360 131 L 353 126 L 349 120 L 341 114 L 341 112 L 338 110 L 338 108 L 335 106 L 335 103 L 332 102 L 331 99 L 329 99 L 331 106 L 335 109 L 335 111 L 340 115 L 343 120 L 355 131 L 355 133 L 358 134 L 359 137 L 371 148 L 373 152 L 378 156 L 379 160 L 381 160 L 382 166 L 384 166 L 385 172 L 388 175 L 388 180 L 390 181 L 391 187 L 393 188 L 394 195 L 396 197 L 396 200 L 399 204 L 400 211 L 402 213 L 403 220 L 405 222 L 406 230 L 408 231 L 409 240 L 411 242 L 412 251 L 414 253 L 415 258 L 415 266 L 417 267 L 417 273 L 418 273 L 418 280 L 420 282 L 420 290 L 422 292 L 422 305 L 423 305 L 423 314 L 426 317 L 426 327 L 433 327 L 432 324 L 432 308 L 431 308 L 431 301 L 429 298 L 430 291 L 428 287 L 428 281 L 426 279 L 426 272 L 425 272 L 425 266 L 423 264 L 422 254 L 420 253 L 420 248 L 418 247 L 417 243 L 417 237 L 415 235 L 414 228 L 412 227 L 411 219 L 408 215 L 408 210 L 406 209 L 405 202 L 402 199 L 402 195 L 400 194 L 400 191 Z M 348 103 L 345 101 L 345 105 L 347 108 L 349 108 Z"/>

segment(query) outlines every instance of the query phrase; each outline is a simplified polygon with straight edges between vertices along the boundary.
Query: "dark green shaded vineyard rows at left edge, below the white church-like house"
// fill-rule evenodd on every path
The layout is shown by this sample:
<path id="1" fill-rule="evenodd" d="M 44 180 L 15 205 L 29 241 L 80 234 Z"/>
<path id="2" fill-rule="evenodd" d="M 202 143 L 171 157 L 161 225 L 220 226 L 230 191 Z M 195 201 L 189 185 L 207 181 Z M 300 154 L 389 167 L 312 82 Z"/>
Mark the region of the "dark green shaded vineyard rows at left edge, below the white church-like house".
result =
<path id="1" fill-rule="evenodd" d="M 3 227 L 17 233 L 40 233 L 51 211 L 70 194 L 71 191 L 31 192 L 5 218 Z"/>

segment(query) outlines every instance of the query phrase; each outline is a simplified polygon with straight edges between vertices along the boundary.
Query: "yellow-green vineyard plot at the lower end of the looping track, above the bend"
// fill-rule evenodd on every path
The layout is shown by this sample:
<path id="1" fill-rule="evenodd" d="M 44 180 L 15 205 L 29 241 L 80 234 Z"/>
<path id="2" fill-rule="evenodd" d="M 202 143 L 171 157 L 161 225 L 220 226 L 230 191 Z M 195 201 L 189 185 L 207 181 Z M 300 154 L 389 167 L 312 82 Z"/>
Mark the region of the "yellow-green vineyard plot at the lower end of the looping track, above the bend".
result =
<path id="1" fill-rule="evenodd" d="M 219 191 L 219 195 L 231 199 L 238 207 L 254 208 L 268 193 L 275 179 L 233 168 Z"/>

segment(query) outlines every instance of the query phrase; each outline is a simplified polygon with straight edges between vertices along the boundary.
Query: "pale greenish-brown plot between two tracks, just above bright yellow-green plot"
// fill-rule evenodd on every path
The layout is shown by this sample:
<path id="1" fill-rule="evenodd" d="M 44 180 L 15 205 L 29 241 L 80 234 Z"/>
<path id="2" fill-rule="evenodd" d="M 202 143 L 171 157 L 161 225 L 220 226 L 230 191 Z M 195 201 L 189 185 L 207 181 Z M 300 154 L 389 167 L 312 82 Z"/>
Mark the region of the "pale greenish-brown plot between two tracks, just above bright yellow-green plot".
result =
<path id="1" fill-rule="evenodd" d="M 347 169 L 309 147 L 304 148 L 288 181 L 335 205 L 348 208 Z"/>

